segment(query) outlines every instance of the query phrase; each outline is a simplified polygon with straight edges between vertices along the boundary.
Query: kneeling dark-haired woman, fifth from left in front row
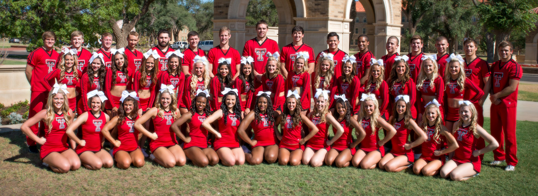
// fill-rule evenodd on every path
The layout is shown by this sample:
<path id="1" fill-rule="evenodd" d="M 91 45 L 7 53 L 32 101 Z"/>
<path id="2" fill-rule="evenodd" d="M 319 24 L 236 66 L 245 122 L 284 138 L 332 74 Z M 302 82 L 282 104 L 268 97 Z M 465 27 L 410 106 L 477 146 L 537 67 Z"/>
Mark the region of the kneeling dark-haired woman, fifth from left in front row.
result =
<path id="1" fill-rule="evenodd" d="M 194 165 L 204 168 L 207 165 L 214 166 L 218 163 L 218 155 L 213 148 L 208 148 L 207 130 L 202 127 L 202 122 L 211 115 L 209 106 L 209 92 L 207 90 L 197 90 L 189 112 L 181 117 L 170 127 L 174 133 L 181 138 L 183 135 L 180 127 L 187 122 L 189 125 L 188 136 L 181 138 L 183 142 L 183 151 Z"/>

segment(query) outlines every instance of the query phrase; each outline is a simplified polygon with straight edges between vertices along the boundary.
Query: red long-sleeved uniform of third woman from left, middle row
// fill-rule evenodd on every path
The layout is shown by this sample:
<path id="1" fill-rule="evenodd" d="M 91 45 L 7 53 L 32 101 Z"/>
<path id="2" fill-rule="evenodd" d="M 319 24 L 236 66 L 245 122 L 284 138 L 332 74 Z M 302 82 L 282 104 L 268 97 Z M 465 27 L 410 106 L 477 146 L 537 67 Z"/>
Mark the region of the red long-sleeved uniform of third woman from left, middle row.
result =
<path id="1" fill-rule="evenodd" d="M 105 105 L 105 108 L 107 110 L 112 110 L 113 107 L 119 108 L 120 101 L 122 97 L 116 97 L 113 96 L 112 93 L 110 93 L 110 90 L 112 89 L 112 69 L 107 70 L 107 76 L 104 79 L 104 93 L 105 96 L 107 96 L 108 100 L 107 104 Z M 126 74 L 129 74 L 129 79 L 127 79 Z M 116 86 L 127 86 L 127 89 L 131 88 L 131 78 L 132 78 L 132 70 L 127 68 L 127 73 L 124 73 L 120 70 L 116 71 Z"/>

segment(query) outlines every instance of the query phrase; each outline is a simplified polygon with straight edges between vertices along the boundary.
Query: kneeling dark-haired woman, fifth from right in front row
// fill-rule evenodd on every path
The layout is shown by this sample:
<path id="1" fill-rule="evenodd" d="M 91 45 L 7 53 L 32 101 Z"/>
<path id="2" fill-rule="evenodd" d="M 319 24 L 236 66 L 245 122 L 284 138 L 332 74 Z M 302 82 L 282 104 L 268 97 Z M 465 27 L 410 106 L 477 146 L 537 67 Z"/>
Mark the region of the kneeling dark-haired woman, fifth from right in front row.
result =
<path id="1" fill-rule="evenodd" d="M 366 137 L 364 129 L 359 125 L 357 120 L 351 118 L 351 105 L 345 95 L 335 97 L 336 113 L 334 114 L 336 120 L 343 127 L 344 133 L 338 140 L 332 144 L 329 153 L 325 157 L 325 164 L 332 165 L 336 162 L 338 168 L 344 168 L 349 166 L 349 161 L 356 153 L 355 146 Z M 357 141 L 353 142 L 353 136 L 351 135 L 352 127 L 355 127 L 357 133 Z M 334 132 L 334 128 L 332 131 Z M 336 133 L 335 133 L 336 137 Z M 353 145 L 352 145 L 353 143 Z"/>

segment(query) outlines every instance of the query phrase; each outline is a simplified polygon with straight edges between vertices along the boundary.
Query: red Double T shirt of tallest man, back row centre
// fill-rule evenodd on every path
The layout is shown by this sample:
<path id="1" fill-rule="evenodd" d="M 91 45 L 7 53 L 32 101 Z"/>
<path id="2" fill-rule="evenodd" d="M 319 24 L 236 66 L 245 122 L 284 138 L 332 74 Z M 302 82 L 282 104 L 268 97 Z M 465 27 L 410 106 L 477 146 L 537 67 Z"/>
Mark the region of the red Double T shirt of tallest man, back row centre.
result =
<path id="1" fill-rule="evenodd" d="M 277 41 L 267 38 L 260 44 L 256 38 L 252 38 L 246 41 L 243 47 L 243 56 L 252 56 L 254 59 L 252 68 L 258 74 L 265 73 L 265 64 L 269 58 L 266 56 L 267 52 L 271 54 L 279 52 Z"/>

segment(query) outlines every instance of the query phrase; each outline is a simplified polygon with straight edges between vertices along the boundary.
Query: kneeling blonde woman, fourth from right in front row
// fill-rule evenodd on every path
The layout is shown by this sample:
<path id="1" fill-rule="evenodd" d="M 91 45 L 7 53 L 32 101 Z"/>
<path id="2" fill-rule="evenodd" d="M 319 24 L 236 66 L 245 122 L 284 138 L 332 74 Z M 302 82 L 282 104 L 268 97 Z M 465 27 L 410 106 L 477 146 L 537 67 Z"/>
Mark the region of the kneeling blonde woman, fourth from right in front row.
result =
<path id="1" fill-rule="evenodd" d="M 396 134 L 396 129 L 379 115 L 379 106 L 375 95 L 363 94 L 360 101 L 362 101 L 359 113 L 360 126 L 364 128 L 366 137 L 360 142 L 360 148 L 353 155 L 351 162 L 355 167 L 360 165 L 363 169 L 374 169 L 381 158 L 385 156 L 383 144 L 392 139 Z M 381 141 L 379 140 L 378 128 L 387 130 L 387 135 Z"/>

